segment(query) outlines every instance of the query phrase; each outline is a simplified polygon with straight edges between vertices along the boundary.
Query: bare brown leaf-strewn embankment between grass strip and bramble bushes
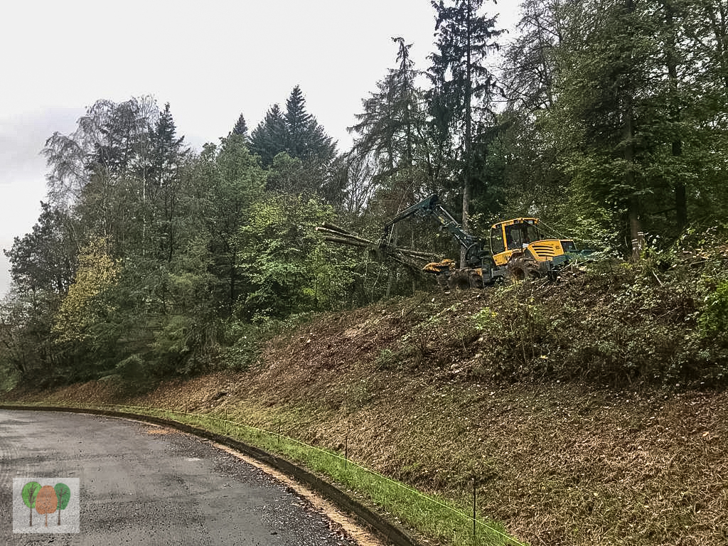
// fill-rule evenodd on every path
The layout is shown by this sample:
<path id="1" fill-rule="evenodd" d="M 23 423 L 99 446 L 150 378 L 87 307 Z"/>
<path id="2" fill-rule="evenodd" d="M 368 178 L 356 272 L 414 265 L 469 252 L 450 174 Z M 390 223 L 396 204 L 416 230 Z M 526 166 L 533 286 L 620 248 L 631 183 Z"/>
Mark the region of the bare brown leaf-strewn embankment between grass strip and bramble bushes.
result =
<path id="1" fill-rule="evenodd" d="M 357 462 L 454 499 L 475 476 L 483 515 L 532 545 L 726 544 L 728 394 L 483 373 L 486 298 L 331 314 L 271 341 L 249 371 L 123 401 L 226 411 L 325 448 L 348 436 Z M 119 401 L 98 383 L 46 396 Z"/>

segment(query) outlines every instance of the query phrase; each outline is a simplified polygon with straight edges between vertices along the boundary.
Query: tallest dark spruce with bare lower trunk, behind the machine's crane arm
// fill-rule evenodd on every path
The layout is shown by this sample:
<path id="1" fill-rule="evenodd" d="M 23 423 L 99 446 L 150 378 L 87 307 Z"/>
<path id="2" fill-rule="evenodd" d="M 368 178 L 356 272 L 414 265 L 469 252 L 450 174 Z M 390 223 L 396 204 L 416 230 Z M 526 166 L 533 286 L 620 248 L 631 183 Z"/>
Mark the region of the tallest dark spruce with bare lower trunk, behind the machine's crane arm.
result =
<path id="1" fill-rule="evenodd" d="M 483 0 L 432 0 L 435 8 L 437 52 L 430 55 L 427 76 L 432 83 L 430 111 L 443 137 L 458 151 L 462 177 L 462 227 L 470 229 L 470 197 L 473 177 L 473 143 L 482 134 L 495 87 L 495 76 L 485 65 L 486 57 L 499 45 L 494 41 L 503 31 L 495 29 L 496 17 L 480 15 Z M 478 100 L 478 103 L 475 101 Z M 459 136 L 462 135 L 462 138 Z M 461 253 L 464 264 L 465 251 Z"/>

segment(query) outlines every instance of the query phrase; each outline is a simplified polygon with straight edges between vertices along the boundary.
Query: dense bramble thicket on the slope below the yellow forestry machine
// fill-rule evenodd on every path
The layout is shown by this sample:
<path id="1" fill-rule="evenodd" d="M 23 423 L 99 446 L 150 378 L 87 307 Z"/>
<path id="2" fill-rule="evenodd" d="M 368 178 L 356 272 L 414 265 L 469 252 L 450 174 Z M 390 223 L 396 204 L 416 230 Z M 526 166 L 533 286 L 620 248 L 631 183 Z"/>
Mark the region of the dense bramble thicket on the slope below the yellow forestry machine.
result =
<path id="1" fill-rule="evenodd" d="M 721 385 L 728 379 L 725 243 L 687 241 L 638 264 L 603 261 L 576 287 L 492 289 L 470 317 L 478 373 L 598 384 Z M 494 314 L 491 309 L 497 309 Z"/>

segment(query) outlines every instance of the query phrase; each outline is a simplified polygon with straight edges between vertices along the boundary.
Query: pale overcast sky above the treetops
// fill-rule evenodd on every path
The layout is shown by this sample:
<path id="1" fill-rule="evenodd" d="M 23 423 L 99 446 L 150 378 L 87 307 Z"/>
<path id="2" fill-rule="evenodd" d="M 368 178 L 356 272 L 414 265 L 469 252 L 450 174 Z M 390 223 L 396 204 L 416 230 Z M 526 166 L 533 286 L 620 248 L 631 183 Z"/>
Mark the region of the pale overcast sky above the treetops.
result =
<path id="1" fill-rule="evenodd" d="M 485 2 L 513 28 L 520 0 Z M 40 151 L 96 100 L 170 103 L 193 149 L 243 114 L 250 130 L 294 86 L 345 151 L 361 101 L 395 66 L 393 36 L 427 68 L 430 0 L 25 0 L 0 9 L 0 248 L 31 231 L 46 197 Z M 9 285 L 0 256 L 0 295 Z"/>

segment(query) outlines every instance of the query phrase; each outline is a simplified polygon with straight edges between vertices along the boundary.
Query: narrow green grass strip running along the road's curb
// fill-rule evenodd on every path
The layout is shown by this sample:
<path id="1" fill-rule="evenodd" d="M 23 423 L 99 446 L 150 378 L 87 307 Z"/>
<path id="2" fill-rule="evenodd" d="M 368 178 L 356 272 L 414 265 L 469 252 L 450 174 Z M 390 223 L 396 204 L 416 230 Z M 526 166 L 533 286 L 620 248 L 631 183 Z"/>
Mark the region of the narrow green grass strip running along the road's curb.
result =
<path id="1" fill-rule="evenodd" d="M 24 403 L 20 407 L 47 403 Z M 52 404 L 63 407 L 63 404 Z M 341 454 L 309 446 L 277 432 L 250 427 L 221 416 L 166 411 L 157 408 L 129 405 L 74 405 L 80 408 L 130 411 L 136 414 L 163 417 L 199 427 L 209 432 L 241 440 L 251 446 L 284 456 L 308 470 L 330 478 L 348 494 L 377 507 L 395 522 L 401 522 L 430 540 L 452 546 L 509 546 L 523 545 L 510 537 L 499 523 L 478 518 L 473 525 L 472 507 L 430 496 L 405 484 L 362 467 Z M 475 529 L 474 529 L 475 527 Z M 474 534 L 475 531 L 475 534 Z"/>

